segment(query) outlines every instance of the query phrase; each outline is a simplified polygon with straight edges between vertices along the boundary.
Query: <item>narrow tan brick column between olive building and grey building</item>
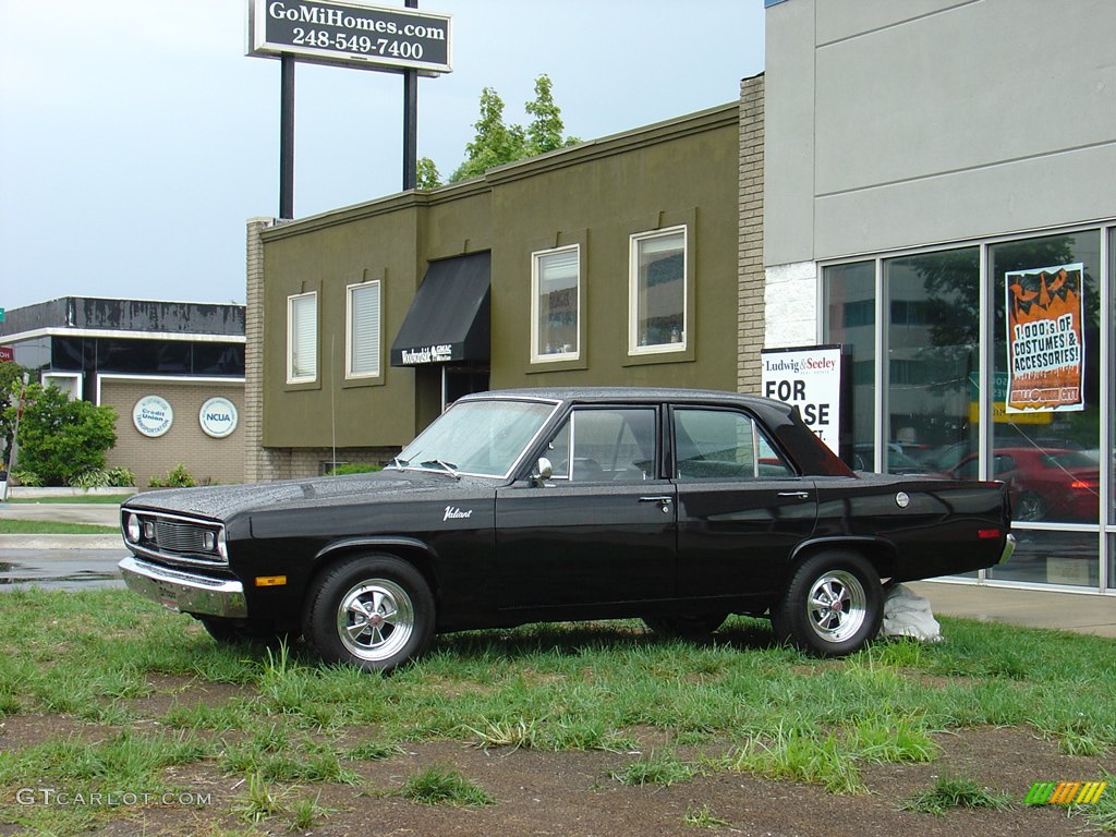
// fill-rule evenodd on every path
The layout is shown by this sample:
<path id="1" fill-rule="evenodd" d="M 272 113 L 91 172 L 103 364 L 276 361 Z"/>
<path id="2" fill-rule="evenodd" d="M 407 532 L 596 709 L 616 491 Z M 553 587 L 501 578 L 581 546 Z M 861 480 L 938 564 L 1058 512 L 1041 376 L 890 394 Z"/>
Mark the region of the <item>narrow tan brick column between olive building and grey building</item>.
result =
<path id="1" fill-rule="evenodd" d="M 763 76 L 740 83 L 740 262 L 737 389 L 760 392 L 763 348 Z"/>

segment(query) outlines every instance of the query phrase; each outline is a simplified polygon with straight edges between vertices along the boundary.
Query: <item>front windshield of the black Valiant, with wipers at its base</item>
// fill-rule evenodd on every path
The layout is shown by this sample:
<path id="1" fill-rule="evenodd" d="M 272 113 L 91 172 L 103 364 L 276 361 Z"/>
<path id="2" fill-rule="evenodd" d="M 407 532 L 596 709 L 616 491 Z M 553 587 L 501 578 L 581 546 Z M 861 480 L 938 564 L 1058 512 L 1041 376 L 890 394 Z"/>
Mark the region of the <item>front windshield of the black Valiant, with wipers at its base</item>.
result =
<path id="1" fill-rule="evenodd" d="M 450 475 L 507 477 L 556 406 L 494 400 L 454 404 L 404 448 L 393 465 Z"/>

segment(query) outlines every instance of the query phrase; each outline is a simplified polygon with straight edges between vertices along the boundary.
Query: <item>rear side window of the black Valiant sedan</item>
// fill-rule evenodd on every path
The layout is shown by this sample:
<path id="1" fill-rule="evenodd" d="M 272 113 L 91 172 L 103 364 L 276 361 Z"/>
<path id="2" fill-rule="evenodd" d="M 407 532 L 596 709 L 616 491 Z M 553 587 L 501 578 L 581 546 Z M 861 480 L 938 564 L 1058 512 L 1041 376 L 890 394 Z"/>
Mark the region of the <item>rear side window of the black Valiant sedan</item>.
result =
<path id="1" fill-rule="evenodd" d="M 730 410 L 674 411 L 674 477 L 732 480 L 793 477 L 756 420 Z"/>

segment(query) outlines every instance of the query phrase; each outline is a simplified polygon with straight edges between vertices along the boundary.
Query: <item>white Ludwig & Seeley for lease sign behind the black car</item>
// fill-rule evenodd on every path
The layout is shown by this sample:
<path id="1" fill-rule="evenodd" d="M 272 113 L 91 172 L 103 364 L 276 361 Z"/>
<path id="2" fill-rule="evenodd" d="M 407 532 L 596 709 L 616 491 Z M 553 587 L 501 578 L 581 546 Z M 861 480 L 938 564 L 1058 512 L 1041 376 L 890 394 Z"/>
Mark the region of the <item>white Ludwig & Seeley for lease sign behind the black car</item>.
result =
<path id="1" fill-rule="evenodd" d="M 802 420 L 837 453 L 840 434 L 840 346 L 764 349 L 762 395 L 793 404 Z"/>

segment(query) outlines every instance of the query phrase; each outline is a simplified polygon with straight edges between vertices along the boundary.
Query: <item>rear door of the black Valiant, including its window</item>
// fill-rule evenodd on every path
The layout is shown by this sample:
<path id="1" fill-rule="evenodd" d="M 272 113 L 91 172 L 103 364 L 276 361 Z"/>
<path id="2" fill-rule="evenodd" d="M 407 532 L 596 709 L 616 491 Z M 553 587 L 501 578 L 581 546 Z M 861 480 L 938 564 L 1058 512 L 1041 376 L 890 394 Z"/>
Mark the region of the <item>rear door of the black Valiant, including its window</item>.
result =
<path id="1" fill-rule="evenodd" d="M 814 531 L 814 481 L 796 474 L 744 411 L 675 406 L 670 426 L 679 596 L 780 589 L 791 550 Z"/>

